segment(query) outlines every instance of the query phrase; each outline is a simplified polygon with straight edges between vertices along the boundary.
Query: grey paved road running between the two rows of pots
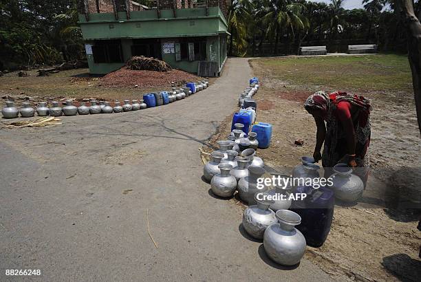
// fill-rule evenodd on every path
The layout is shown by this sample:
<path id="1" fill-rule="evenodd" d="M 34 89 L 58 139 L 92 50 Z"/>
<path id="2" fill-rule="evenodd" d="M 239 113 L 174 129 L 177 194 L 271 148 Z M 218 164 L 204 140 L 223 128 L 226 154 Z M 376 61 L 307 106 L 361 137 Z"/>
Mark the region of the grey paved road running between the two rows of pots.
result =
<path id="1" fill-rule="evenodd" d="M 239 232 L 240 208 L 201 180 L 198 148 L 248 77 L 230 58 L 215 85 L 164 107 L 0 129 L 0 280 L 8 268 L 44 281 L 328 280 L 307 260 L 268 261 Z"/>

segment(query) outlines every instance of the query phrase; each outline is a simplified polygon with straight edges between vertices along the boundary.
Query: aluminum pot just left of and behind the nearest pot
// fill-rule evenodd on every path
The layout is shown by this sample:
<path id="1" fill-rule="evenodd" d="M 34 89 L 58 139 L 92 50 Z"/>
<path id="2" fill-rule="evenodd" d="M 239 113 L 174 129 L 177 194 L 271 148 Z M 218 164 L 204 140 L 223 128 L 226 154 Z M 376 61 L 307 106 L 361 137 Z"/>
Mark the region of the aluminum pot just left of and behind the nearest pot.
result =
<path id="1" fill-rule="evenodd" d="M 278 219 L 269 208 L 272 201 L 265 198 L 266 193 L 256 193 L 254 195 L 256 205 L 249 206 L 243 213 L 244 230 L 253 238 L 263 239 L 266 228 L 272 224 L 277 224 Z"/>

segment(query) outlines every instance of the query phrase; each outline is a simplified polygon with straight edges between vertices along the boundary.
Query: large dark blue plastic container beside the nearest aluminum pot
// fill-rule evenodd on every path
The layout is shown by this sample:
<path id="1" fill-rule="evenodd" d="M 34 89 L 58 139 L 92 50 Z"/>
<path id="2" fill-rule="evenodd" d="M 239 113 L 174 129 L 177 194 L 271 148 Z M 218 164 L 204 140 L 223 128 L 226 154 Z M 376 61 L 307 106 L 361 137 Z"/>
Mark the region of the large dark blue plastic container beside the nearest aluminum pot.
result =
<path id="1" fill-rule="evenodd" d="M 290 210 L 301 217 L 301 224 L 295 227 L 303 233 L 308 246 L 319 248 L 325 243 L 332 226 L 334 192 L 325 187 L 299 186 L 296 193 L 305 193 L 307 197 L 292 202 Z"/>

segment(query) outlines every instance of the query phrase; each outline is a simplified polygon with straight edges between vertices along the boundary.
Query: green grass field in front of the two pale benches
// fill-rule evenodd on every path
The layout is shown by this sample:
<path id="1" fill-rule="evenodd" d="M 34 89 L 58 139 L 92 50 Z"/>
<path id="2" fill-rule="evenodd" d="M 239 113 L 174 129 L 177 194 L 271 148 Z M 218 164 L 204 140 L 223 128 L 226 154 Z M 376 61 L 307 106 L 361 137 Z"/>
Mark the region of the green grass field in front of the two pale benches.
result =
<path id="1" fill-rule="evenodd" d="M 298 88 L 412 91 L 411 69 L 403 55 L 261 58 L 252 63 Z"/>

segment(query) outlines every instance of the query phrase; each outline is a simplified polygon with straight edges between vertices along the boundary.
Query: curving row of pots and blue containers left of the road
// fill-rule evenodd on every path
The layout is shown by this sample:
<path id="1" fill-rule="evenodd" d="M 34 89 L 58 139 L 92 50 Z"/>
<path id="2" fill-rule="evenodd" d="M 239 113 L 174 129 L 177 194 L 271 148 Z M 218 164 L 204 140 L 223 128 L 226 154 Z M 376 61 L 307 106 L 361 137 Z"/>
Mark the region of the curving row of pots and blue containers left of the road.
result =
<path id="1" fill-rule="evenodd" d="M 35 116 L 76 116 L 88 115 L 96 113 L 122 113 L 125 111 L 137 111 L 140 109 L 146 109 L 147 107 L 155 107 L 160 105 L 166 105 L 177 100 L 182 100 L 197 91 L 201 91 L 208 87 L 209 83 L 207 80 L 199 81 L 198 83 L 186 83 L 186 87 L 176 89 L 173 87 L 171 91 L 162 91 L 159 93 L 145 94 L 142 100 L 124 100 L 121 104 L 118 100 L 111 106 L 107 101 L 91 100 L 90 105 L 86 105 L 85 102 L 80 102 L 80 105 L 76 107 L 72 100 L 66 100 L 63 102 L 63 107 L 57 101 L 51 102 L 50 107 L 47 106 L 47 102 L 39 102 L 38 106 L 34 109 L 30 107 L 30 102 L 23 102 L 21 107 L 14 107 L 14 102 L 6 101 L 6 107 L 1 109 L 3 118 L 18 118 L 19 114 L 22 118 L 30 118 Z M 153 98 L 151 98 L 151 96 Z"/>

